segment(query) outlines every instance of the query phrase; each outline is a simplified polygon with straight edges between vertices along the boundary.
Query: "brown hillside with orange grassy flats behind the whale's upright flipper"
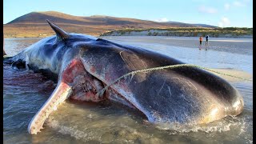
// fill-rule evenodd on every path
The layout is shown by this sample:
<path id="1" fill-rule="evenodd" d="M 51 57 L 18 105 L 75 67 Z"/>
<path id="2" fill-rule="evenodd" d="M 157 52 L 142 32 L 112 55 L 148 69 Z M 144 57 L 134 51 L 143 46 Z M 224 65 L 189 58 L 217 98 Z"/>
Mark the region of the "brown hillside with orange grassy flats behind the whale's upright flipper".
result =
<path id="1" fill-rule="evenodd" d="M 94 15 L 90 17 L 74 16 L 55 11 L 32 12 L 25 14 L 3 26 L 5 37 L 46 37 L 54 34 L 46 19 L 56 23 L 70 33 L 100 35 L 112 30 L 150 29 L 170 27 L 196 27 L 186 23 L 163 23 L 135 18 L 115 18 Z"/>

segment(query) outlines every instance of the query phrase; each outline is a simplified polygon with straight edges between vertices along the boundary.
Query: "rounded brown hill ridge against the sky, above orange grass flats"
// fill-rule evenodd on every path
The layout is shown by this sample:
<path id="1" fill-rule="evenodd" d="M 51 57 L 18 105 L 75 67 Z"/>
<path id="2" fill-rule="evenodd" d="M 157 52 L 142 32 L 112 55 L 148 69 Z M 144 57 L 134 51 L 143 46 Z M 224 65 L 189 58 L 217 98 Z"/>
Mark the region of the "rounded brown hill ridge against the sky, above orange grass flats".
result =
<path id="1" fill-rule="evenodd" d="M 44 24 L 46 19 L 50 19 L 54 22 L 65 23 L 65 24 L 75 24 L 75 25 L 86 25 L 86 26 L 128 26 L 135 28 L 142 27 L 162 27 L 162 26 L 174 26 L 174 27 L 187 27 L 190 24 L 167 24 L 161 22 L 153 22 L 140 20 L 135 18 L 115 18 L 103 15 L 93 15 L 90 17 L 79 17 L 70 14 L 63 14 L 56 11 L 46 11 L 46 12 L 32 12 L 30 14 L 25 14 L 19 18 L 7 24 Z"/>

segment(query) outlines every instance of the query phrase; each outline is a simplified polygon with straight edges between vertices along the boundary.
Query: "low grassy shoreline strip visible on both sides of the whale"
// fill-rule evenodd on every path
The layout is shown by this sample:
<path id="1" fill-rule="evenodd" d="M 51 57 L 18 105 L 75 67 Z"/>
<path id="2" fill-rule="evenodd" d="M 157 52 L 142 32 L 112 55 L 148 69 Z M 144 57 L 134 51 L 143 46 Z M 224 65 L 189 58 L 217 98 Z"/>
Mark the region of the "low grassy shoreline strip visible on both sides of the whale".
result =
<path id="1" fill-rule="evenodd" d="M 38 33 L 37 33 L 38 32 Z M 94 37 L 101 36 L 165 36 L 165 37 L 205 37 L 209 35 L 210 38 L 253 38 L 253 28 L 238 28 L 238 27 L 226 27 L 226 28 L 191 28 L 191 27 L 171 27 L 168 29 L 151 28 L 151 29 L 121 29 L 102 32 L 89 33 L 82 32 L 81 34 L 88 34 Z M 42 30 L 35 30 L 32 32 L 16 32 L 10 34 L 10 32 L 4 32 L 4 38 L 46 38 L 53 33 L 42 32 Z"/>

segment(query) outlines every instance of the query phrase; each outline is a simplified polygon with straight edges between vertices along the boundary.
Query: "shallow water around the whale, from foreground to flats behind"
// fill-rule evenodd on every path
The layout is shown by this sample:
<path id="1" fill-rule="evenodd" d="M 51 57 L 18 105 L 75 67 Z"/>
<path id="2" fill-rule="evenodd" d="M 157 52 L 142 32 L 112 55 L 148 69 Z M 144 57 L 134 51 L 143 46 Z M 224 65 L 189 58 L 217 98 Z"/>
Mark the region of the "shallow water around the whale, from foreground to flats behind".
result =
<path id="1" fill-rule="evenodd" d="M 226 46 L 226 50 L 218 50 L 221 48 L 198 50 L 193 46 L 185 46 L 188 43 L 184 45 L 178 43 L 189 41 L 190 45 L 194 45 L 196 40 L 193 38 L 188 38 L 189 40 L 186 38 L 177 40 L 176 38 L 178 42 L 175 45 L 162 40 L 166 37 L 104 38 L 113 42 L 158 51 L 186 63 L 214 69 L 242 70 L 253 74 L 253 56 L 252 53 L 250 54 L 250 50 L 252 51 L 253 48 L 250 38 L 243 38 L 242 42 L 241 39 L 222 38 L 222 40 L 229 41 L 223 44 Z M 214 40 L 214 38 L 212 39 Z M 39 38 L 6 38 L 6 53 L 17 54 L 38 40 Z M 234 41 L 237 44 L 234 44 Z M 174 40 L 172 42 L 174 43 Z M 221 43 L 222 41 L 218 41 L 218 45 Z M 211 43 L 211 46 L 213 45 Z M 41 133 L 30 135 L 26 131 L 30 119 L 46 102 L 56 84 L 41 74 L 34 74 L 31 70 L 18 71 L 4 65 L 3 142 L 62 144 L 71 142 L 252 143 L 253 82 L 240 80 L 232 81 L 231 84 L 243 95 L 245 107 L 242 114 L 207 125 L 191 127 L 153 125 L 125 106 L 111 102 L 95 104 L 67 100 L 58 107 L 58 110 L 50 114 Z"/>

